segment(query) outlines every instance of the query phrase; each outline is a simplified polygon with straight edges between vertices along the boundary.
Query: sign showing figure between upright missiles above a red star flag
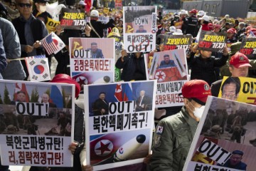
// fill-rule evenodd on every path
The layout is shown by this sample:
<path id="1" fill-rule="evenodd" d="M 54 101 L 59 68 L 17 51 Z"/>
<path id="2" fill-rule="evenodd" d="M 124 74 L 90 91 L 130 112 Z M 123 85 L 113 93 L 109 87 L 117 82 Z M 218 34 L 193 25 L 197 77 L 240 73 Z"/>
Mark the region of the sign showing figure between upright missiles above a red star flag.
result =
<path id="1" fill-rule="evenodd" d="M 181 87 L 188 81 L 184 49 L 147 54 L 147 78 L 157 80 L 156 108 L 183 105 Z"/>

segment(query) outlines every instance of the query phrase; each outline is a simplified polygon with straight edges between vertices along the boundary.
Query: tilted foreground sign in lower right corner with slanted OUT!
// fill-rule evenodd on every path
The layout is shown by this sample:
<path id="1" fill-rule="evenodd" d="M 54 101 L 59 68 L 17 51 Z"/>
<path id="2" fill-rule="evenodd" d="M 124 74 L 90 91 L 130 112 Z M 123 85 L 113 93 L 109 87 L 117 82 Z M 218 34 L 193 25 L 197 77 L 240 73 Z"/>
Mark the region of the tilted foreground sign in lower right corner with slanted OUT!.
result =
<path id="1" fill-rule="evenodd" d="M 255 105 L 208 96 L 183 170 L 254 170 L 255 114 Z"/>

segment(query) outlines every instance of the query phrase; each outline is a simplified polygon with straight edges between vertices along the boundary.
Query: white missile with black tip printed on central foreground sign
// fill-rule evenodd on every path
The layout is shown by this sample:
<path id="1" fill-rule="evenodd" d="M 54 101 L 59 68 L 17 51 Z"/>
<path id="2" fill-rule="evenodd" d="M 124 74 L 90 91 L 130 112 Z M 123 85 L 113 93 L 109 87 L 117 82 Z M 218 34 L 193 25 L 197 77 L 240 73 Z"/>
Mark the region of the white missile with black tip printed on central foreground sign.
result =
<path id="1" fill-rule="evenodd" d="M 137 137 L 132 138 L 131 140 L 125 142 L 124 145 L 119 147 L 118 150 L 114 152 L 114 155 L 105 160 L 102 160 L 102 162 L 97 163 L 97 165 L 104 165 L 112 162 L 121 162 L 129 159 L 129 157 L 131 157 L 134 152 L 137 151 L 138 147 L 140 147 L 145 142 L 145 140 L 145 135 L 137 135 Z"/>

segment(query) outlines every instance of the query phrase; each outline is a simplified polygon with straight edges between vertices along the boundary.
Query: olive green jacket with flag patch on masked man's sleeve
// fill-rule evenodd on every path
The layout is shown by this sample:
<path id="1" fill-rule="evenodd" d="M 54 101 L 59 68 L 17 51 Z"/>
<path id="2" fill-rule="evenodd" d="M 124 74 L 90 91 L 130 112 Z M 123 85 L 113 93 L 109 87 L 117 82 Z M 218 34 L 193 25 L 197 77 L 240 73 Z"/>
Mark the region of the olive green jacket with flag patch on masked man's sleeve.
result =
<path id="1" fill-rule="evenodd" d="M 154 135 L 150 170 L 182 170 L 197 126 L 185 106 L 176 115 L 162 119 Z"/>

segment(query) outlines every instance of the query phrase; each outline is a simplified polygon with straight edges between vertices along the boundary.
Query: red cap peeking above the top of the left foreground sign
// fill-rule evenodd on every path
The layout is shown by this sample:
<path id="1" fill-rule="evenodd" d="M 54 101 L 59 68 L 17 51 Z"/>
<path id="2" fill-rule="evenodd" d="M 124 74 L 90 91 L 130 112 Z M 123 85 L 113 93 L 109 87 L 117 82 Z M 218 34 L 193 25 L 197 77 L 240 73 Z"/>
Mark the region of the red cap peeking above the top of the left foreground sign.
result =
<path id="1" fill-rule="evenodd" d="M 53 79 L 50 81 L 50 83 L 70 83 L 70 84 L 75 84 L 75 98 L 78 97 L 80 93 L 80 84 L 77 83 L 76 81 L 73 81 L 73 79 L 68 76 L 67 74 L 60 73 L 57 74 L 56 76 L 53 77 Z"/>

